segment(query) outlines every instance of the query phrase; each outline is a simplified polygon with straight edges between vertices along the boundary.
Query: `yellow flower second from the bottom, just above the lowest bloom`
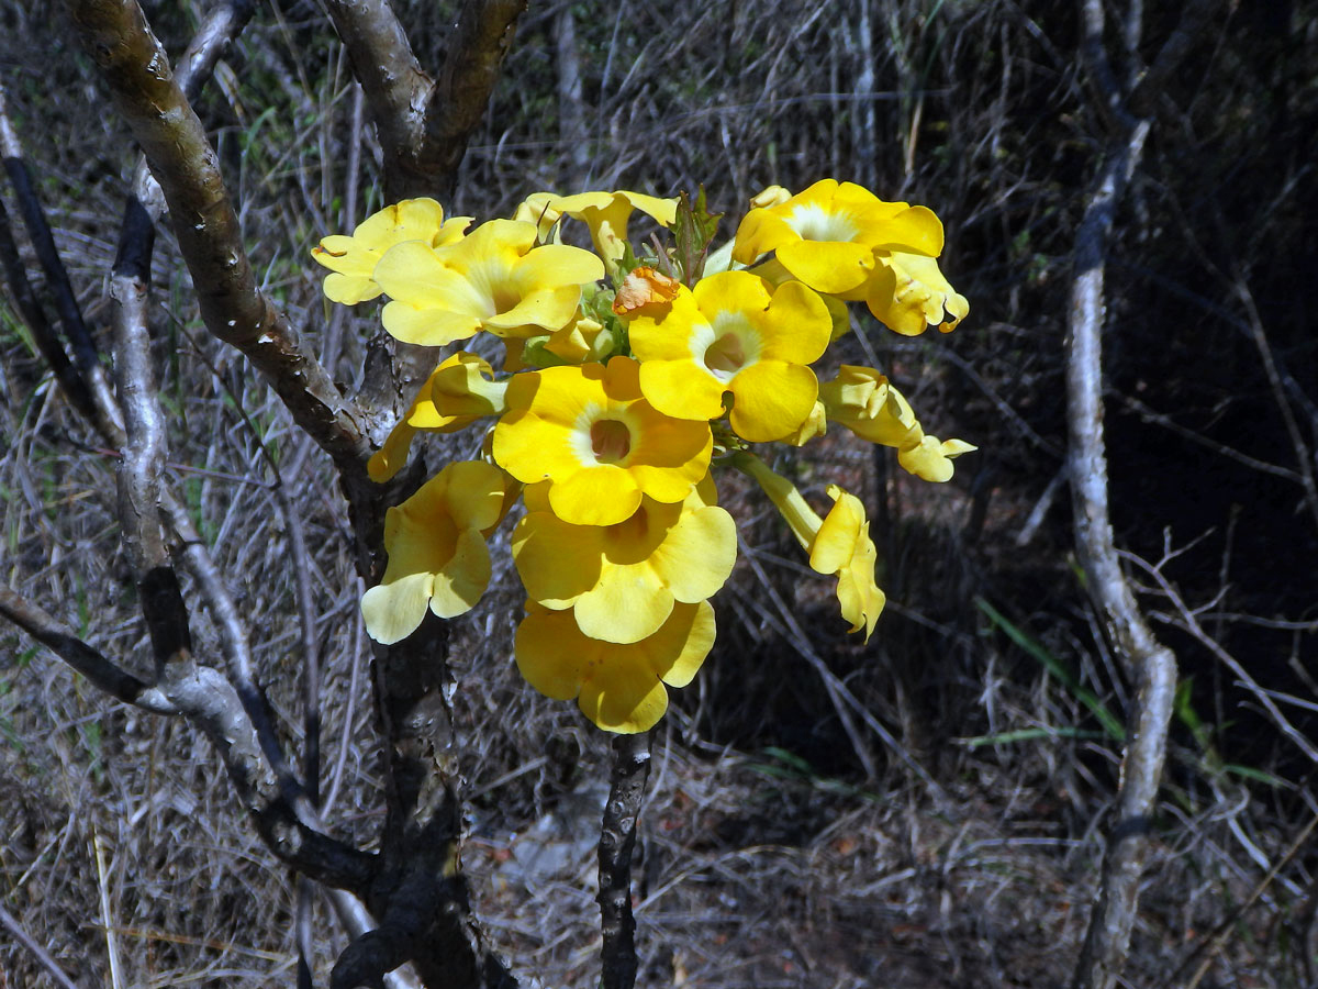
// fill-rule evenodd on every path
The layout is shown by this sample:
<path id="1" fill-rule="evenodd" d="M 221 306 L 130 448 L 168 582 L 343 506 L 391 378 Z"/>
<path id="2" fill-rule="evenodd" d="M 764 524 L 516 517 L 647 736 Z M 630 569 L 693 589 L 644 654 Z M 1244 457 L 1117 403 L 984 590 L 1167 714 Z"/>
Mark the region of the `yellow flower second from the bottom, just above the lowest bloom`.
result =
<path id="1" fill-rule="evenodd" d="M 560 520 L 543 485 L 532 485 L 527 516 L 513 530 L 513 559 L 531 600 L 571 608 L 590 638 L 639 642 L 676 604 L 710 597 L 731 574 L 737 525 L 714 501 L 706 475 L 683 502 L 642 498 L 630 518 L 584 526 Z"/>

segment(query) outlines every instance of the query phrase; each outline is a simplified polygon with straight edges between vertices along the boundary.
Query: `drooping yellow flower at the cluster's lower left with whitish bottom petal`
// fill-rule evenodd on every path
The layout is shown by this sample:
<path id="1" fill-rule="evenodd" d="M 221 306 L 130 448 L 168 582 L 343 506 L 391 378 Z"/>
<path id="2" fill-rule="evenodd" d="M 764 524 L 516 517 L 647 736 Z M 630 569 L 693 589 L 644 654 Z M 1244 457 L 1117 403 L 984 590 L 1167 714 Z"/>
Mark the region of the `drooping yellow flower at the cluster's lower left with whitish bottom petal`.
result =
<path id="1" fill-rule="evenodd" d="M 482 460 L 445 467 L 385 514 L 384 580 L 362 595 L 377 642 L 398 642 L 430 608 L 442 618 L 469 611 L 490 579 L 486 535 L 511 504 L 506 475 Z"/>

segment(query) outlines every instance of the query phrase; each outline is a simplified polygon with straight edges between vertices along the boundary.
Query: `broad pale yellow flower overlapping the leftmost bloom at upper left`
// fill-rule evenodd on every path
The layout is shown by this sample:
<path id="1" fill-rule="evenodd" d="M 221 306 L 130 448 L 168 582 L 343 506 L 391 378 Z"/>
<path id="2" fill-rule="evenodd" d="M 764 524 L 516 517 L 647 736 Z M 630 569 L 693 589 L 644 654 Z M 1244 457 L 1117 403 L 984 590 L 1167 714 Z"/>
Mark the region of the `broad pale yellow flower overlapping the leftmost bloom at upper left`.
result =
<path id="1" fill-rule="evenodd" d="M 448 247 L 398 244 L 374 277 L 393 299 L 385 330 L 403 343 L 443 347 L 478 330 L 534 336 L 565 326 L 581 286 L 602 278 L 604 265 L 580 248 L 535 247 L 535 224 L 490 220 Z"/>

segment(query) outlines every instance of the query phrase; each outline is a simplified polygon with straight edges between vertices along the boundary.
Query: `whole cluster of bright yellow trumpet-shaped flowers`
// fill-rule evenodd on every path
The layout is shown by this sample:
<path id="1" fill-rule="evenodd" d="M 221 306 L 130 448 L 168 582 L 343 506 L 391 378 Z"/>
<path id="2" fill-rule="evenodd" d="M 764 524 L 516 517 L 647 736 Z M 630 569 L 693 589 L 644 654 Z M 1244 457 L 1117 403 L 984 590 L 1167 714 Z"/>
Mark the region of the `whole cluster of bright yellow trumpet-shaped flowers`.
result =
<path id="1" fill-rule="evenodd" d="M 320 243 L 326 295 L 386 297 L 381 318 L 398 340 L 447 347 L 484 331 L 505 345 L 500 371 L 464 351 L 436 361 L 370 459 L 386 481 L 418 433 L 490 423 L 484 459 L 448 464 L 389 510 L 389 566 L 361 601 L 376 641 L 406 638 L 427 611 L 469 611 L 490 578 L 486 541 L 521 497 L 519 670 L 600 728 L 647 731 L 714 642 L 709 599 L 737 558 L 718 467 L 759 483 L 869 640 L 884 596 L 861 501 L 830 485 L 821 518 L 750 444 L 800 446 L 833 421 L 948 480 L 952 458 L 974 447 L 925 435 L 878 371 L 842 365 L 821 384 L 811 364 L 846 332 L 847 302 L 907 335 L 949 331 L 967 305 L 938 270 L 942 224 L 923 206 L 825 179 L 797 195 L 771 187 L 751 207 L 713 252 L 702 195 L 627 191 L 536 193 L 513 219 L 471 231 L 469 218 L 411 199 Z M 638 257 L 635 211 L 675 244 Z M 563 243 L 573 220 L 594 252 Z"/>

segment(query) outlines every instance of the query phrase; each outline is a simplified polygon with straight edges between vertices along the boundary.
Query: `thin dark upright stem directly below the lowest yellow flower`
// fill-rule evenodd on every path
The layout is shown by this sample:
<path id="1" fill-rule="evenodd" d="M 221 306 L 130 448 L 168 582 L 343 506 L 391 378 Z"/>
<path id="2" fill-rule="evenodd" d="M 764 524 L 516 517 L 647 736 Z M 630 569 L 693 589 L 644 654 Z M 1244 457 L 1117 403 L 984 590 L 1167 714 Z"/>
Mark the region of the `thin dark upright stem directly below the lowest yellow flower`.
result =
<path id="1" fill-rule="evenodd" d="M 631 915 L 631 853 L 637 818 L 650 775 L 650 734 L 613 740 L 609 803 L 600 827 L 600 934 L 604 989 L 631 989 L 637 981 L 637 920 Z"/>

